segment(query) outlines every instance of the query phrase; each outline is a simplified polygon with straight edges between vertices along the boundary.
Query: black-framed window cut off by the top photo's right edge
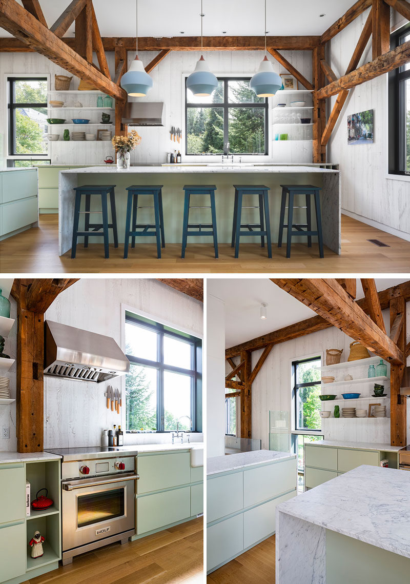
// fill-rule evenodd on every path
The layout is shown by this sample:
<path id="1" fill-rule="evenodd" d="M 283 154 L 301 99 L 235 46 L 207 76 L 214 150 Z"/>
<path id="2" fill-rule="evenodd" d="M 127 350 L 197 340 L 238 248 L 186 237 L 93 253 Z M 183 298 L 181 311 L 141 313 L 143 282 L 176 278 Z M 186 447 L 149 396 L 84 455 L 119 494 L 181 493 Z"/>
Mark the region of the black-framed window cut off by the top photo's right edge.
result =
<path id="1" fill-rule="evenodd" d="M 391 50 L 410 40 L 410 25 L 390 37 Z M 388 172 L 410 175 L 410 62 L 388 74 Z"/>

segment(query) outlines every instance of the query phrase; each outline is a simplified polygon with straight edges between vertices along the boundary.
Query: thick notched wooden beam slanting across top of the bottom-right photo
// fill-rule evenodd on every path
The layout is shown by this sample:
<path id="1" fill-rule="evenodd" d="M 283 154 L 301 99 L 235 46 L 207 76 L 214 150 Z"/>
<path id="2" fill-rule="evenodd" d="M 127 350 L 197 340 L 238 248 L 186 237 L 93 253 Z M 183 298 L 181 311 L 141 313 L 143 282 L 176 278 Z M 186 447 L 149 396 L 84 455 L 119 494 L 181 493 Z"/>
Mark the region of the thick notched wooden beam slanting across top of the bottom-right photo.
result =
<path id="1" fill-rule="evenodd" d="M 334 279 L 271 279 L 346 335 L 391 364 L 404 363 L 404 353 L 371 320 Z"/>

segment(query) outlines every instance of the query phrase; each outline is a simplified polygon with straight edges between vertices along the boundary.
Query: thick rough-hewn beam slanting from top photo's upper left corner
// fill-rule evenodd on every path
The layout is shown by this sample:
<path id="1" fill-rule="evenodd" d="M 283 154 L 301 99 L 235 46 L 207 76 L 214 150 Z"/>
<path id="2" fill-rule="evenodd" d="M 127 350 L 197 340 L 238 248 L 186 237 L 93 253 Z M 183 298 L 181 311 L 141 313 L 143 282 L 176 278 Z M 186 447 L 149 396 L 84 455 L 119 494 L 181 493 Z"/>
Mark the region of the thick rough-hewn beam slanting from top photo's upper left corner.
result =
<path id="1" fill-rule="evenodd" d="M 37 53 L 44 55 L 80 79 L 88 81 L 96 89 L 117 100 L 126 101 L 127 93 L 122 88 L 107 79 L 91 63 L 68 47 L 16 0 L 0 0 L 0 26 L 34 48 Z"/>

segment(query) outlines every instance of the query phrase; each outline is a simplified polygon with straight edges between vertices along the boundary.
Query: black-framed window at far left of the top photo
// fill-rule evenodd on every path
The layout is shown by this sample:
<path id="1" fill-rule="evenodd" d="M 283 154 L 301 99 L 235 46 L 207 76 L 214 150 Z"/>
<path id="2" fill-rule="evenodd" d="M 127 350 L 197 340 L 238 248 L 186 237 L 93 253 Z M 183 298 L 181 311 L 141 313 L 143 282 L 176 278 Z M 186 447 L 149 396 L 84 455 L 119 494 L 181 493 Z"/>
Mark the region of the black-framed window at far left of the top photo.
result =
<path id="1" fill-rule="evenodd" d="M 9 156 L 47 155 L 47 78 L 9 77 Z"/>

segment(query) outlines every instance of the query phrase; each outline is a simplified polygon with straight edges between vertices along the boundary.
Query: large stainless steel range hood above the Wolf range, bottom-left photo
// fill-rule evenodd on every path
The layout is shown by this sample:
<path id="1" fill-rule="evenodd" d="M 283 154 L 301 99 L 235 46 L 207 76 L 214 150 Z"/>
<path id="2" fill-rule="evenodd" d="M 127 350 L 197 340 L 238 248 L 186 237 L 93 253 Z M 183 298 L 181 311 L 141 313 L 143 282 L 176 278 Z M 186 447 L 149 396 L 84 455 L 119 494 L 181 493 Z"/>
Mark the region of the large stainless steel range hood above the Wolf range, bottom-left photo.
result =
<path id="1" fill-rule="evenodd" d="M 101 383 L 130 370 L 110 336 L 46 321 L 44 344 L 44 375 Z"/>

